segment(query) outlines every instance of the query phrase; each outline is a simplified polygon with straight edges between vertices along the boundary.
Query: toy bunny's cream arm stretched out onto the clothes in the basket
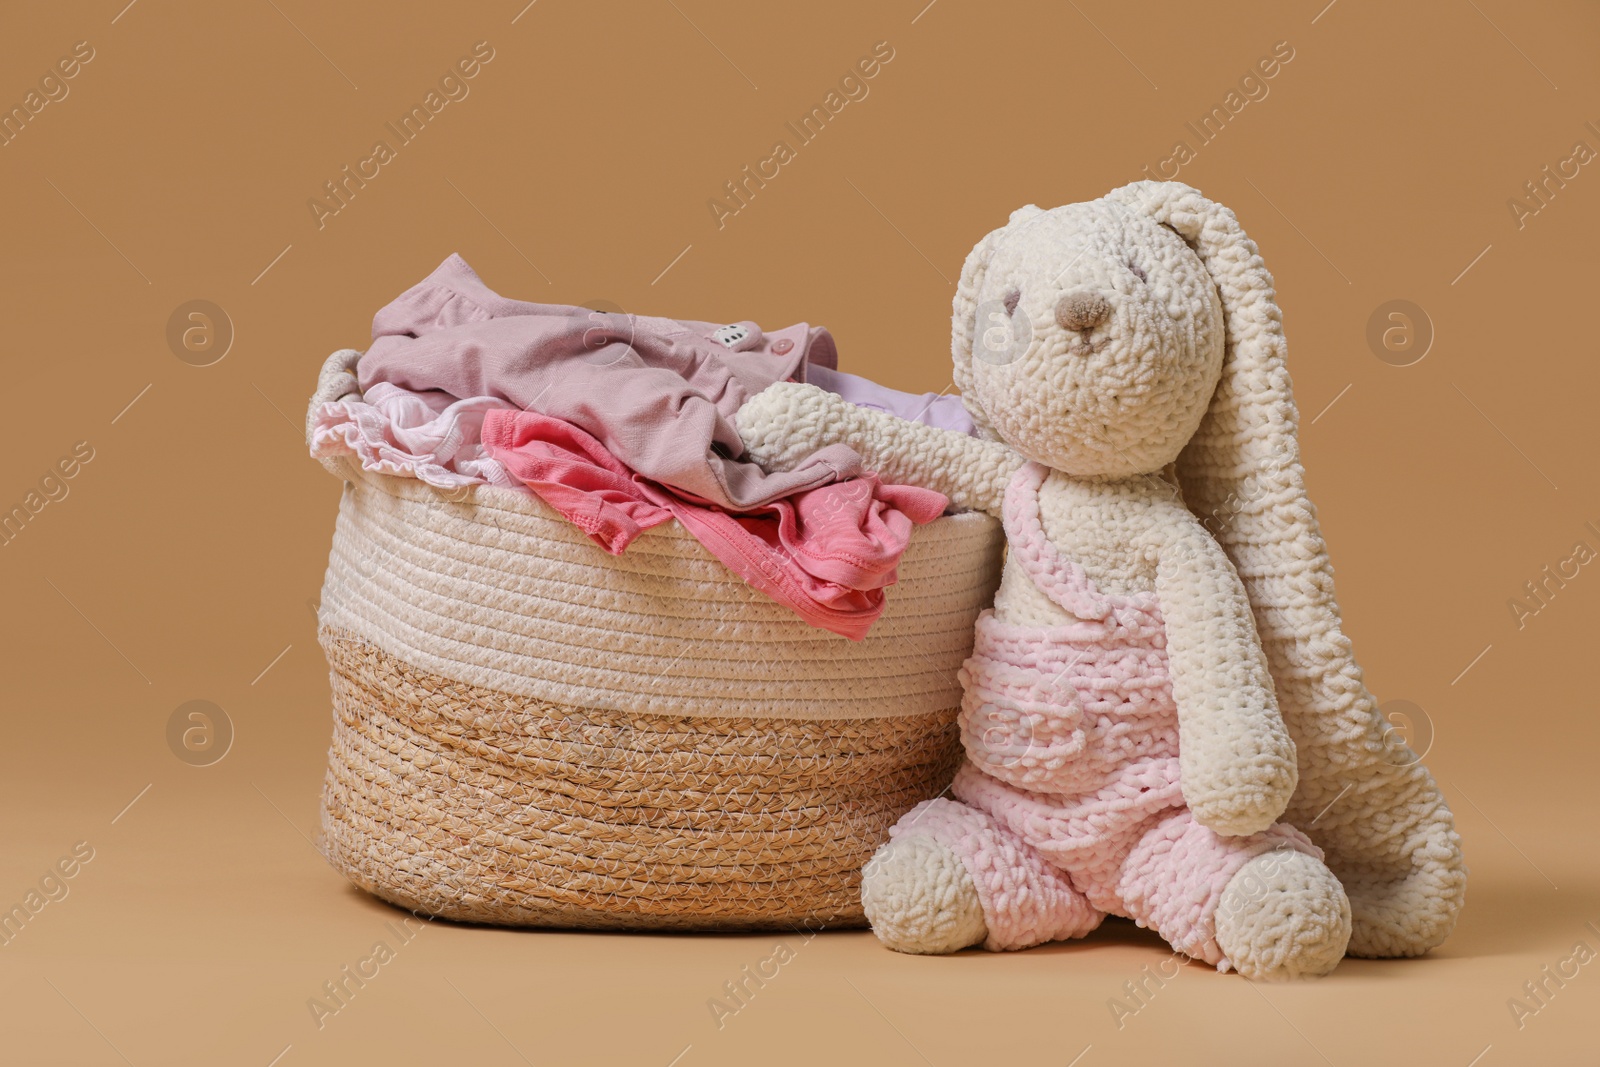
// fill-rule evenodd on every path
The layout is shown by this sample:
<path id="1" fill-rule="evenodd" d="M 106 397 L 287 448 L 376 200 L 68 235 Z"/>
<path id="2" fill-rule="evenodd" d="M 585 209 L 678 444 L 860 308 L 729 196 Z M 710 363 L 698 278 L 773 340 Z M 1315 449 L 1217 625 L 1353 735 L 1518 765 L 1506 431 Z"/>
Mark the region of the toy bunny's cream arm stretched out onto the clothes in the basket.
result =
<path id="1" fill-rule="evenodd" d="M 938 490 L 955 509 L 995 517 L 1026 462 L 1000 442 L 861 408 L 802 382 L 768 386 L 744 402 L 734 422 L 749 458 L 766 470 L 789 470 L 826 445 L 848 445 L 885 482 Z"/>

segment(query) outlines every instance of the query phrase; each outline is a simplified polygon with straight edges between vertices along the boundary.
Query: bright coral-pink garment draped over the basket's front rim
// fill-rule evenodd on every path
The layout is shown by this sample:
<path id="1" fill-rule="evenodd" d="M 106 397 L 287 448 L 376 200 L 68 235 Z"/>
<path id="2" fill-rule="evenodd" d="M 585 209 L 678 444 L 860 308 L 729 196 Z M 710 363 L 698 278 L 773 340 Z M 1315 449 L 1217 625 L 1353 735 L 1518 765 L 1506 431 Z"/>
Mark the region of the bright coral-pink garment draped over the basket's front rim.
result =
<path id="1" fill-rule="evenodd" d="M 590 434 L 534 411 L 485 413 L 483 450 L 605 550 L 621 553 L 677 518 L 750 585 L 851 640 L 883 613 L 912 526 L 949 502 L 864 474 L 730 514 L 653 483 Z"/>

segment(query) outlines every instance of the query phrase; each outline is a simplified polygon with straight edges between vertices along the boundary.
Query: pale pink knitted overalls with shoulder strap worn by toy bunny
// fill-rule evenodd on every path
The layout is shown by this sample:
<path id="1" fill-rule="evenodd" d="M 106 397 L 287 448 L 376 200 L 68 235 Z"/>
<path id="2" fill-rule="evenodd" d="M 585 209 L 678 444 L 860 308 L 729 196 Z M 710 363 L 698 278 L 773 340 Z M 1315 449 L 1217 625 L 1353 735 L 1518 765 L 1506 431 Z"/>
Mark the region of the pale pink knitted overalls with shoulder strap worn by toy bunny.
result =
<path id="1" fill-rule="evenodd" d="M 1251 857 L 1288 848 L 1322 859 L 1293 827 L 1219 837 L 1184 805 L 1178 705 L 1154 592 L 1102 595 L 1045 537 L 1024 466 L 1005 498 L 1013 558 L 1074 617 L 1051 627 L 978 619 L 962 670 L 966 760 L 952 792 L 890 832 L 930 835 L 965 864 L 982 902 L 984 947 L 1082 937 L 1104 915 L 1150 926 L 1174 949 L 1226 965 L 1222 889 Z"/>

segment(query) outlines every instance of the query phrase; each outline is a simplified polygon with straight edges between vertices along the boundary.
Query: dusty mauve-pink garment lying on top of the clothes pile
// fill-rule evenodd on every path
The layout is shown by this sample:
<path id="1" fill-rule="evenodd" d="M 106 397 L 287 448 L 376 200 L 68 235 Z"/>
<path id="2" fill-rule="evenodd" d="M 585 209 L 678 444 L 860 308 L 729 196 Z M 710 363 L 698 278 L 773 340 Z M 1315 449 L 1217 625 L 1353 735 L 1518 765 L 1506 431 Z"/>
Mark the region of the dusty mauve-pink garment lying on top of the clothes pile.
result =
<path id="1" fill-rule="evenodd" d="M 762 333 L 715 325 L 512 301 L 450 256 L 373 318 L 357 365 L 376 382 L 450 397 L 493 397 L 571 422 L 640 475 L 741 510 L 861 474 L 830 445 L 795 470 L 741 459 L 733 416 L 773 382 L 834 366 L 832 336 L 805 323 Z"/>

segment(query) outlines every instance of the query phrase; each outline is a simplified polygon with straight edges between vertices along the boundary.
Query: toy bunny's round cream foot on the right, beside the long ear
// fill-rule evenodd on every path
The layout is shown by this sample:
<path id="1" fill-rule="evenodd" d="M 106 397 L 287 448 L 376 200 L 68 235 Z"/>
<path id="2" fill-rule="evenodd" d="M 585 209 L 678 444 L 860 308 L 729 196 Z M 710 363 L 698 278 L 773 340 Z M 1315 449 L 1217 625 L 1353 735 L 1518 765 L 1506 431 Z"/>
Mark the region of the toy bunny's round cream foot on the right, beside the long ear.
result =
<path id="1" fill-rule="evenodd" d="M 1322 861 L 1294 851 L 1262 853 L 1222 891 L 1216 941 L 1245 977 L 1328 974 L 1350 941 L 1350 901 Z"/>

